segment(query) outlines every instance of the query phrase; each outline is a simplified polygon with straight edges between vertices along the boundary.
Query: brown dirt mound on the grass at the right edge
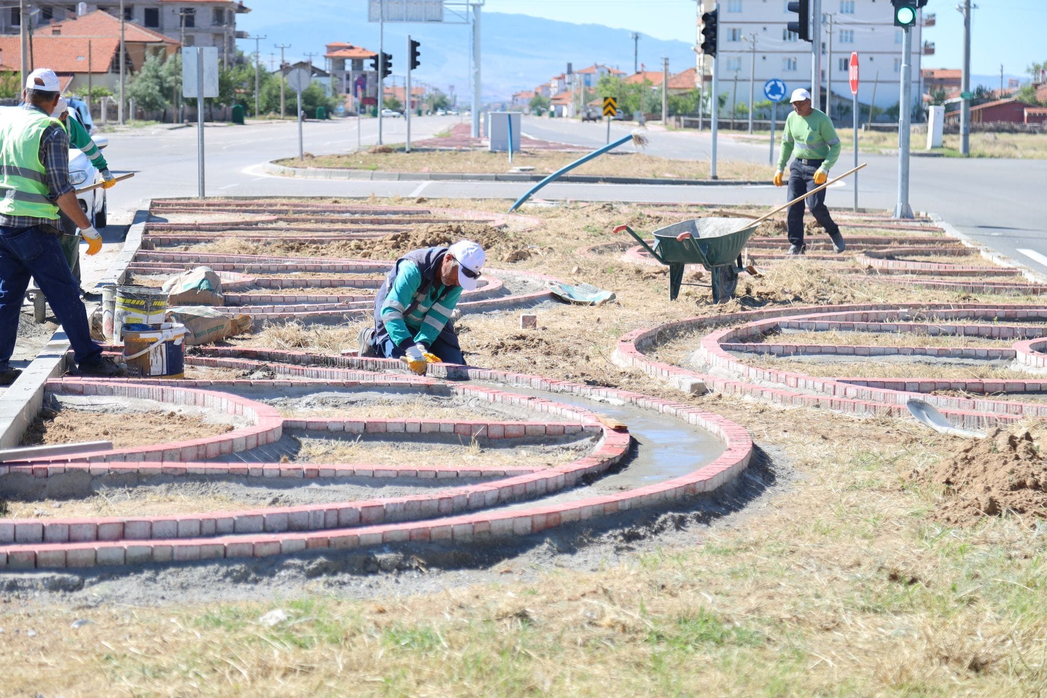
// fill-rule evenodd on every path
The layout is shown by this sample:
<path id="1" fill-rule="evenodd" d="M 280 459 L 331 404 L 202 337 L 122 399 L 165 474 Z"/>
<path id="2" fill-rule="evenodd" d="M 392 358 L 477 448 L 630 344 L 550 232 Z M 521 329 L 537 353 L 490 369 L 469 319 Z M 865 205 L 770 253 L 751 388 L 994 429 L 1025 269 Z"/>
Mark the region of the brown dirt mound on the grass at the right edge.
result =
<path id="1" fill-rule="evenodd" d="M 973 523 L 1008 512 L 1031 520 L 1047 516 L 1047 461 L 1040 451 L 1047 425 L 996 429 L 988 438 L 963 444 L 952 457 L 910 479 L 945 486 L 935 517 L 950 524 Z"/>

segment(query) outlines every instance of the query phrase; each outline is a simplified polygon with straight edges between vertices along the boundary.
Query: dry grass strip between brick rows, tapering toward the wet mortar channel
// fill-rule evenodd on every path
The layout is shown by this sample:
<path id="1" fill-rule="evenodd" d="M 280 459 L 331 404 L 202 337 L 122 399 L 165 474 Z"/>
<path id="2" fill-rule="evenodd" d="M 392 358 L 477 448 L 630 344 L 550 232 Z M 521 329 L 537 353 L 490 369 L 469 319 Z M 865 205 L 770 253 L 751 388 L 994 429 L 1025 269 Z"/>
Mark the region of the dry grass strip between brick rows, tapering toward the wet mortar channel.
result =
<path id="1" fill-rule="evenodd" d="M 483 434 L 481 434 L 483 437 Z M 365 442 L 362 440 L 297 437 L 302 449 L 295 463 L 369 463 L 419 466 L 548 466 L 571 463 L 591 448 L 587 442 L 557 447 L 508 446 L 485 448 L 475 438 L 459 444 Z"/>

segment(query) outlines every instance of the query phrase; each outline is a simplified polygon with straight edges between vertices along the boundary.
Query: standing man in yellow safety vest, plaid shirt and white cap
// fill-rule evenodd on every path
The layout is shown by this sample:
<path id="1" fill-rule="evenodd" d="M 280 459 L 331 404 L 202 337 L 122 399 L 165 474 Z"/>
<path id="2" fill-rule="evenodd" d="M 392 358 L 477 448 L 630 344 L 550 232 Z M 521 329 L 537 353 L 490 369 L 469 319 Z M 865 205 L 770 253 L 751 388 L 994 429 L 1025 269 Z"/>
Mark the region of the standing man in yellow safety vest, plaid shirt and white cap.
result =
<path id="1" fill-rule="evenodd" d="M 59 92 L 54 71 L 38 68 L 26 80 L 25 104 L 0 110 L 0 385 L 10 384 L 21 373 L 9 361 L 30 276 L 62 323 L 80 373 L 126 373 L 91 341 L 80 285 L 59 244 L 61 209 L 81 229 L 88 254 L 102 249 L 102 235 L 81 210 L 69 183 L 69 136 L 51 117 Z"/>

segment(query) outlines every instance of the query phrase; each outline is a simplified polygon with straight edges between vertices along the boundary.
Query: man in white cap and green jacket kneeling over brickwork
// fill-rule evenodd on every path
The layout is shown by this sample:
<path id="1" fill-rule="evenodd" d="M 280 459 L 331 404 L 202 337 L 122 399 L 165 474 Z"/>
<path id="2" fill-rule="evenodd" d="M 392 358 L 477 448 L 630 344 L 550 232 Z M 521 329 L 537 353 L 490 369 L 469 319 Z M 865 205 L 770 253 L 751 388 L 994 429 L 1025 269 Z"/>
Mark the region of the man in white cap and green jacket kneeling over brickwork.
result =
<path id="1" fill-rule="evenodd" d="M 357 337 L 361 357 L 400 359 L 419 376 L 429 363 L 465 363 L 451 313 L 476 288 L 487 255 L 476 243 L 426 247 L 396 261 L 375 296 L 375 323 Z"/>

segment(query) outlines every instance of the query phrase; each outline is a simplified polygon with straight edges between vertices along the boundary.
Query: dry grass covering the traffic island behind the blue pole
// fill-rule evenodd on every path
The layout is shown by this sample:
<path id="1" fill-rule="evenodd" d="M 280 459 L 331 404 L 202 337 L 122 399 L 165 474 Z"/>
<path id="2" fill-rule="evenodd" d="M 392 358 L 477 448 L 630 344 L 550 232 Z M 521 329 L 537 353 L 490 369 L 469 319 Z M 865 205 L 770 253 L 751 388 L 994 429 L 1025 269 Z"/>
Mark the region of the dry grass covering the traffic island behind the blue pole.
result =
<path id="1" fill-rule="evenodd" d="M 511 167 L 534 167 L 534 173 L 548 175 L 582 156 L 582 153 L 525 151 L 513 154 L 513 162 L 505 153 L 486 151 L 413 151 L 404 153 L 350 153 L 306 158 L 308 167 L 340 170 L 373 170 L 380 172 L 454 172 L 507 173 Z M 280 160 L 279 164 L 298 166 L 297 159 Z M 651 177 L 655 179 L 708 179 L 706 160 L 670 160 L 643 153 L 608 154 L 572 171 L 575 175 L 606 175 L 617 177 Z M 743 161 L 719 161 L 716 174 L 720 179 L 770 180 L 774 167 Z"/>

